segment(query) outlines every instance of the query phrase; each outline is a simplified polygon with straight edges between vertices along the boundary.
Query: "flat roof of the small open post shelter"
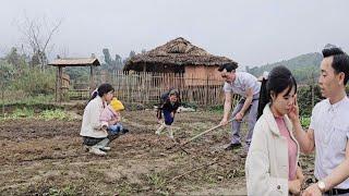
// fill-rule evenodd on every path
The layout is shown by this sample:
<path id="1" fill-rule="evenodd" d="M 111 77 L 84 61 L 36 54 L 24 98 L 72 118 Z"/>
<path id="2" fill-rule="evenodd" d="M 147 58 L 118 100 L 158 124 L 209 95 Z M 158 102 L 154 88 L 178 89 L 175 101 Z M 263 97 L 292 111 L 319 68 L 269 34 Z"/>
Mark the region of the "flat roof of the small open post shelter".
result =
<path id="1" fill-rule="evenodd" d="M 98 59 L 96 58 L 67 58 L 67 59 L 56 59 L 48 63 L 52 66 L 98 66 L 100 65 Z"/>

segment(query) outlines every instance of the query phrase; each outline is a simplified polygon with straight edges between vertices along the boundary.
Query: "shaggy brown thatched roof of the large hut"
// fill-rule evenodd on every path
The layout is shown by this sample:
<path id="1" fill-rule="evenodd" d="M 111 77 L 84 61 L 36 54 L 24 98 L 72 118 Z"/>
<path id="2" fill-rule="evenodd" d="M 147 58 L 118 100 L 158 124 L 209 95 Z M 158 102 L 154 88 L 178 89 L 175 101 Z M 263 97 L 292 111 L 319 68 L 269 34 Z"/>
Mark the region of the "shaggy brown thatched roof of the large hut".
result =
<path id="1" fill-rule="evenodd" d="M 131 58 L 124 70 L 142 71 L 144 64 L 148 65 L 221 65 L 226 63 L 236 63 L 226 58 L 213 56 L 202 48 L 192 45 L 186 39 L 179 37 L 167 44 L 159 46 L 145 53 L 136 54 Z"/>

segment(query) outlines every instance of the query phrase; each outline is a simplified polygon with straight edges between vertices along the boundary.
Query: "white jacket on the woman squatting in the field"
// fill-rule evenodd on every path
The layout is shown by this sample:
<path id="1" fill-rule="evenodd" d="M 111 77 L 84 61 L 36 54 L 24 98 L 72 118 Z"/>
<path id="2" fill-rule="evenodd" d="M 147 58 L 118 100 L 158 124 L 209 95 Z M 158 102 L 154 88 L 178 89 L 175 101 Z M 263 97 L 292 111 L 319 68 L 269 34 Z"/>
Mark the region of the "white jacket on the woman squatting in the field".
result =
<path id="1" fill-rule="evenodd" d="M 105 102 L 105 106 L 107 103 Z M 107 122 L 101 123 L 99 121 L 99 117 L 101 111 L 104 110 L 103 99 L 97 96 L 93 100 L 91 100 L 85 110 L 83 115 L 83 122 L 81 126 L 81 136 L 94 137 L 94 138 L 104 138 L 108 136 L 106 130 L 103 130 L 101 126 L 107 125 Z"/>

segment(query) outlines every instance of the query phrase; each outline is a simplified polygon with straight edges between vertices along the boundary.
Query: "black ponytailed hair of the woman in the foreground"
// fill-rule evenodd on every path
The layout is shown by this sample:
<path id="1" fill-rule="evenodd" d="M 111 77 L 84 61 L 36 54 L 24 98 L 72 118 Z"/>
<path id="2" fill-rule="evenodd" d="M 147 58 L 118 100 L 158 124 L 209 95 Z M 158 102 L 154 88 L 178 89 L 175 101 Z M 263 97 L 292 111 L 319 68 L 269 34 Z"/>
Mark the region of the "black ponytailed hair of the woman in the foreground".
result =
<path id="1" fill-rule="evenodd" d="M 292 87 L 294 87 L 297 91 L 297 82 L 292 73 L 286 66 L 275 66 L 270 71 L 267 79 L 263 78 L 262 81 L 257 119 L 263 114 L 264 107 L 272 100 L 270 91 L 277 96 L 285 89 L 288 89 L 286 94 L 288 95 L 292 90 Z"/>

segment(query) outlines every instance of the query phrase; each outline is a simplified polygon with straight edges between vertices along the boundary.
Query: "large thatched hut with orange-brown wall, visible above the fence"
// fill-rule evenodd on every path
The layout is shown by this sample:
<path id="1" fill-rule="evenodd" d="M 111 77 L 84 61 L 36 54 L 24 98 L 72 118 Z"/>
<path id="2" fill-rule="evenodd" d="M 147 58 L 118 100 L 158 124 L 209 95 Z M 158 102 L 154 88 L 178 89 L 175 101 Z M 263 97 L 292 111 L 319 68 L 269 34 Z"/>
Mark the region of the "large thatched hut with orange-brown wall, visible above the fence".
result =
<path id="1" fill-rule="evenodd" d="M 200 85 L 207 78 L 217 79 L 221 84 L 217 71 L 221 64 L 237 62 L 226 58 L 213 56 L 202 48 L 192 45 L 189 40 L 179 37 L 145 53 L 132 57 L 125 64 L 124 71 L 153 72 L 153 73 L 183 73 L 185 85 Z"/>

